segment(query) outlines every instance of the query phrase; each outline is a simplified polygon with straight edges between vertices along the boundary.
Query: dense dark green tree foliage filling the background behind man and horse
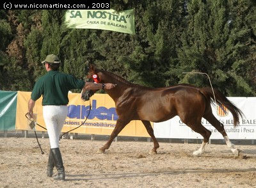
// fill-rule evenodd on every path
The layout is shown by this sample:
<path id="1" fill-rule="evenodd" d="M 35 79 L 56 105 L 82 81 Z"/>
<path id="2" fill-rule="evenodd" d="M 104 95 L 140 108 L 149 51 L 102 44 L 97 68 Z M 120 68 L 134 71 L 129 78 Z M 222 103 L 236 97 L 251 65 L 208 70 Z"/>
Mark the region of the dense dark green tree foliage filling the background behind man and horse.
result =
<path id="1" fill-rule="evenodd" d="M 65 10 L 0 11 L 0 90 L 31 91 L 47 54 L 83 79 L 88 63 L 150 87 L 209 86 L 256 96 L 256 3 L 252 0 L 111 0 L 134 9 L 136 35 L 67 29 Z M 76 91 L 76 90 L 75 90 Z"/>

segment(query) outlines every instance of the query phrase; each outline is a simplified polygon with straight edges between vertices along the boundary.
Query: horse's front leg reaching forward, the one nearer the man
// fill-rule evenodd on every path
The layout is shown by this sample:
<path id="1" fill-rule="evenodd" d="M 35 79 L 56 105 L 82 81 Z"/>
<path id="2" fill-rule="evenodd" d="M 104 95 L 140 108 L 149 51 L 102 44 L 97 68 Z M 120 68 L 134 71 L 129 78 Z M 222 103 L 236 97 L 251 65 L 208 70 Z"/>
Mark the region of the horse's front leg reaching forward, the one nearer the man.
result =
<path id="1" fill-rule="evenodd" d="M 109 146 L 111 145 L 111 143 L 113 142 L 115 137 L 118 136 L 118 134 L 121 132 L 122 129 L 124 129 L 124 127 L 125 127 L 125 125 L 127 125 L 127 123 L 129 123 L 129 121 L 124 121 L 124 120 L 118 119 L 116 121 L 116 127 L 113 130 L 113 132 L 111 133 L 111 135 L 108 139 L 108 142 L 102 148 L 99 148 L 97 153 L 104 153 L 105 150 L 108 150 Z"/>

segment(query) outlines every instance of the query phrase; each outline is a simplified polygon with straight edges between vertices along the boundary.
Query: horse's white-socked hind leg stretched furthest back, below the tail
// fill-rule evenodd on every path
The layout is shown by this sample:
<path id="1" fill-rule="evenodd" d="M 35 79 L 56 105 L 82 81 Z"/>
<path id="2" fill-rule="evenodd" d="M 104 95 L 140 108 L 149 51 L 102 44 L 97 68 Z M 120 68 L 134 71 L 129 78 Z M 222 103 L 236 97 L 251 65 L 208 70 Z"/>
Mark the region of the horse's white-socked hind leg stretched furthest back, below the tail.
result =
<path id="1" fill-rule="evenodd" d="M 229 138 L 227 136 L 227 133 L 224 129 L 224 125 L 220 121 L 218 121 L 212 113 L 205 114 L 204 118 L 205 118 L 205 120 L 209 121 L 209 123 L 211 123 L 211 125 L 213 127 L 215 127 L 222 134 L 228 148 L 230 148 L 230 150 L 232 151 L 232 153 L 234 153 L 235 156 L 238 156 L 239 155 L 239 150 L 229 140 Z"/>

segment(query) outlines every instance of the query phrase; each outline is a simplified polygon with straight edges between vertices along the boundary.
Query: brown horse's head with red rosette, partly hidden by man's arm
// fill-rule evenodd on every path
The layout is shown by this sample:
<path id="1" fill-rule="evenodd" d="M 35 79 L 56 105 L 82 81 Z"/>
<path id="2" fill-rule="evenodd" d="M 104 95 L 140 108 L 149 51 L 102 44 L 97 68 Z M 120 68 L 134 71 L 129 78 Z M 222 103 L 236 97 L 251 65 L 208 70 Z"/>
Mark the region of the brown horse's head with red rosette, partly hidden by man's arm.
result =
<path id="1" fill-rule="evenodd" d="M 97 82 L 97 83 L 101 83 L 101 75 L 98 75 L 98 72 L 96 70 L 96 68 L 93 65 L 90 65 L 89 70 L 88 70 L 88 74 L 86 76 L 86 81 L 91 81 L 91 82 Z M 92 95 L 94 95 L 94 93 L 96 93 L 99 90 L 82 90 L 81 92 L 81 98 L 83 100 L 89 100 L 90 97 L 92 97 Z"/>

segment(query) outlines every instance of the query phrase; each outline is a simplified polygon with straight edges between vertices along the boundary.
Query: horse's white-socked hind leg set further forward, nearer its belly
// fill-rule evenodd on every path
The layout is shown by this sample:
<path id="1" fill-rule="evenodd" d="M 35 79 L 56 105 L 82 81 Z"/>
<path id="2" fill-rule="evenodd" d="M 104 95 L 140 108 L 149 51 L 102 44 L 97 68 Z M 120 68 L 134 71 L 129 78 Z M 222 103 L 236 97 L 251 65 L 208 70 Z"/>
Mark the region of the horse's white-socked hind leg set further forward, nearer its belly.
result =
<path id="1" fill-rule="evenodd" d="M 207 145 L 207 143 L 209 141 L 209 137 L 211 136 L 212 132 L 208 129 L 205 129 L 205 127 L 201 124 L 201 122 L 195 123 L 195 124 L 188 124 L 188 126 L 192 130 L 194 130 L 195 132 L 198 132 L 199 134 L 201 134 L 204 137 L 204 141 L 202 142 L 201 147 L 198 150 L 196 150 L 195 152 L 193 152 L 193 155 L 198 157 L 204 153 L 205 146 Z"/>

